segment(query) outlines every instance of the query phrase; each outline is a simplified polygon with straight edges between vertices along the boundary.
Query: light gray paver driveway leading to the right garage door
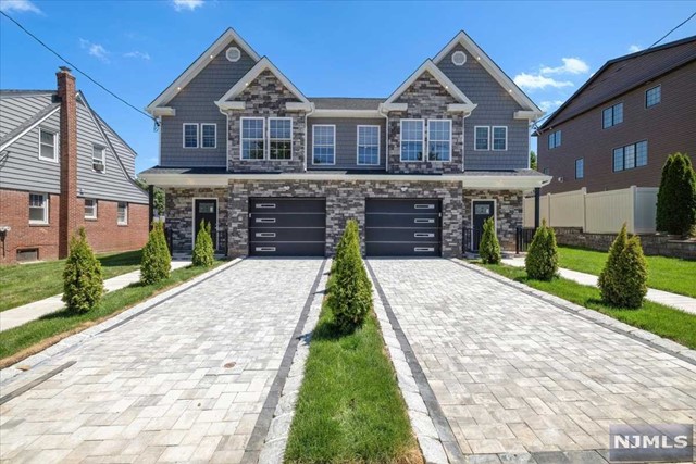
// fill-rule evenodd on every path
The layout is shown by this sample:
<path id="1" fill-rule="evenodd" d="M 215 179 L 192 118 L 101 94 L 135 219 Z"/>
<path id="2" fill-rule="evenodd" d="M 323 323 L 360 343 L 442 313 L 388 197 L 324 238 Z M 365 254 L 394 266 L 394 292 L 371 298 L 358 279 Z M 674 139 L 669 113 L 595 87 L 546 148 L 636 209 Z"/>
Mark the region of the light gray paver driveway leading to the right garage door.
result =
<path id="1" fill-rule="evenodd" d="M 693 364 L 450 261 L 369 263 L 464 454 L 606 450 L 610 424 L 696 422 Z"/>

